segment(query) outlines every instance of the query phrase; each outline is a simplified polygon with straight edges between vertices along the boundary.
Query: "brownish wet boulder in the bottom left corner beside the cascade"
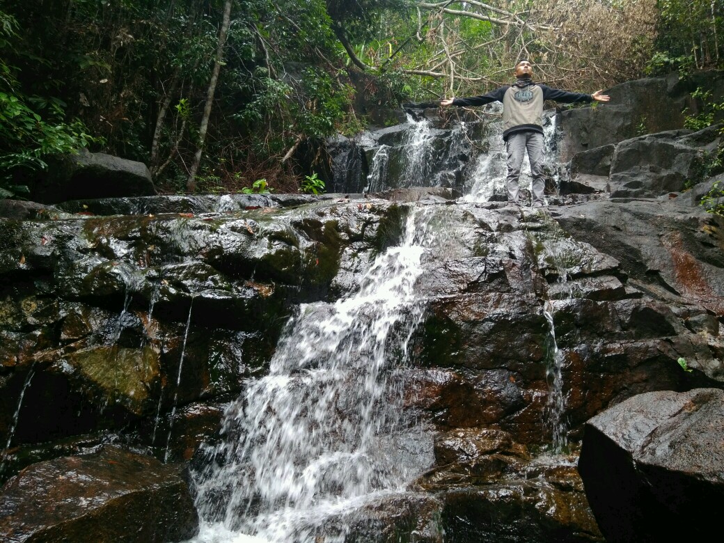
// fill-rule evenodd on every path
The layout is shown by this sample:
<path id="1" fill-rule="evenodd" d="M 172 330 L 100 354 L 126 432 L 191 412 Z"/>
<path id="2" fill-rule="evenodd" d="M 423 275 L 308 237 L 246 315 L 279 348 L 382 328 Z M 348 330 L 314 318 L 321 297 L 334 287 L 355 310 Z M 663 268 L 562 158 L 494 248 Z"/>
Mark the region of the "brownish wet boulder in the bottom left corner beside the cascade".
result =
<path id="1" fill-rule="evenodd" d="M 176 542 L 198 515 L 179 466 L 106 446 L 33 464 L 0 491 L 7 542 Z"/>

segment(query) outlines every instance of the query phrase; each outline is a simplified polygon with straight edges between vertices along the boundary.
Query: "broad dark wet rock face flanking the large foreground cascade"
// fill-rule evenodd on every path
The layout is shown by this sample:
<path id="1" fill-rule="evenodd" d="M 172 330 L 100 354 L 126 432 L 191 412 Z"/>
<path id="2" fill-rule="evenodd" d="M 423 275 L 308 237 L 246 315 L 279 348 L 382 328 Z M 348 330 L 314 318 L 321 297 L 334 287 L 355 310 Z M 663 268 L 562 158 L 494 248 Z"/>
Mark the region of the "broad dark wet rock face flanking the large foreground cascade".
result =
<path id="1" fill-rule="evenodd" d="M 621 115 L 607 107 L 592 114 Z M 572 149 L 565 122 L 559 148 Z M 576 469 L 586 421 L 643 392 L 724 388 L 724 219 L 699 206 L 720 178 L 683 191 L 720 135 L 663 128 L 678 131 L 589 127 L 543 210 L 456 198 L 465 183 L 7 206 L 3 478 L 109 443 L 203 471 L 199 446 L 224 439 L 224 411 L 269 372 L 300 303 L 358 292 L 424 208 L 424 311 L 400 368 L 402 405 L 422 431 L 387 448 L 429 458 L 405 492 L 331 515 L 316 534 L 602 541 Z"/>

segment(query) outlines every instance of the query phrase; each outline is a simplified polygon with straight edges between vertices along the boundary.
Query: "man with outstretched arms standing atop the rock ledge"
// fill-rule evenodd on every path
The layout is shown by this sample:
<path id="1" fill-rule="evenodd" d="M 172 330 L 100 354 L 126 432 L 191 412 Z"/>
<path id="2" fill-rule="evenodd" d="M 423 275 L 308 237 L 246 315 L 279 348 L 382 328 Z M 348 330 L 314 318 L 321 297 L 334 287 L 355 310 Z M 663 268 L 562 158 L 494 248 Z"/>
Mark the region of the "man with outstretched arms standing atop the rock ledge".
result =
<path id="1" fill-rule="evenodd" d="M 533 176 L 533 207 L 545 205 L 543 190 L 543 102 L 553 100 L 573 102 L 607 102 L 609 96 L 597 90 L 593 94 L 569 93 L 546 85 L 533 83 L 533 66 L 527 60 L 515 64 L 515 83 L 497 88 L 491 93 L 473 98 L 445 98 L 441 106 L 483 106 L 494 101 L 502 102 L 502 139 L 508 152 L 508 203 L 519 206 L 518 177 L 521 175 L 523 153 L 528 151 Z"/>

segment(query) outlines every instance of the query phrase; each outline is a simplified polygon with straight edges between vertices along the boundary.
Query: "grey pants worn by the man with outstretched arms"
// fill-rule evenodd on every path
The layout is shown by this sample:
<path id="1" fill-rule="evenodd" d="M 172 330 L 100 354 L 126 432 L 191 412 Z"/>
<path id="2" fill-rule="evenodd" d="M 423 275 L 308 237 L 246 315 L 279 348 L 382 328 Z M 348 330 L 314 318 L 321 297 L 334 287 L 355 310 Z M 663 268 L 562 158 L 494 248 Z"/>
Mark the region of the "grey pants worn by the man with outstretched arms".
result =
<path id="1" fill-rule="evenodd" d="M 523 154 L 528 150 L 528 159 L 531 163 L 531 175 L 533 176 L 533 204 L 544 204 L 543 190 L 545 180 L 543 178 L 543 163 L 545 153 L 543 148 L 543 135 L 540 132 L 528 130 L 526 132 L 513 132 L 505 142 L 505 150 L 508 151 L 508 177 L 505 184 L 508 187 L 508 201 L 518 203 L 518 177 L 521 177 L 521 166 L 523 165 Z"/>

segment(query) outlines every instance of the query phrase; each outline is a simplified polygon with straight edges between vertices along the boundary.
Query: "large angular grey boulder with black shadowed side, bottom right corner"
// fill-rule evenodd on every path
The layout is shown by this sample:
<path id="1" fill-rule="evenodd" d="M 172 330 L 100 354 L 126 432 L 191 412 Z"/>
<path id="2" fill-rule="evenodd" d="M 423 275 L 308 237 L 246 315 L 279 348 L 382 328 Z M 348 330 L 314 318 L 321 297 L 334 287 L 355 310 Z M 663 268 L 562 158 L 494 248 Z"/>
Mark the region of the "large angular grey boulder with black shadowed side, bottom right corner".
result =
<path id="1" fill-rule="evenodd" d="M 649 392 L 586 423 L 578 470 L 607 542 L 710 539 L 724 506 L 724 392 Z"/>

